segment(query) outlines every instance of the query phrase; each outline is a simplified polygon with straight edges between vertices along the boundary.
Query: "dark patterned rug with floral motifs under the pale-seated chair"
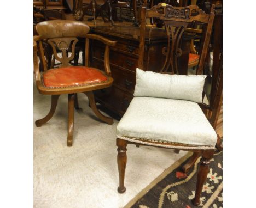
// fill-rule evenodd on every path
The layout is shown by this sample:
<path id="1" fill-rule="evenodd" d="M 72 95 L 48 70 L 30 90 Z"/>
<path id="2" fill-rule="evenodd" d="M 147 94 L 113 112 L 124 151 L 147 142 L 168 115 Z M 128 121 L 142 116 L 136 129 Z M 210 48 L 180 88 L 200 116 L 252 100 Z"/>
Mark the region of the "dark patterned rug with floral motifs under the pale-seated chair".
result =
<path id="1" fill-rule="evenodd" d="M 188 175 L 180 168 L 188 161 L 191 153 L 182 157 L 170 168 L 166 169 L 149 186 L 144 188 L 125 207 L 132 208 L 165 208 L 165 207 L 196 207 L 191 203 L 195 195 L 197 167 L 200 158 L 195 162 Z M 216 152 L 210 163 L 207 180 L 202 189 L 199 207 L 222 208 L 222 152 Z"/>

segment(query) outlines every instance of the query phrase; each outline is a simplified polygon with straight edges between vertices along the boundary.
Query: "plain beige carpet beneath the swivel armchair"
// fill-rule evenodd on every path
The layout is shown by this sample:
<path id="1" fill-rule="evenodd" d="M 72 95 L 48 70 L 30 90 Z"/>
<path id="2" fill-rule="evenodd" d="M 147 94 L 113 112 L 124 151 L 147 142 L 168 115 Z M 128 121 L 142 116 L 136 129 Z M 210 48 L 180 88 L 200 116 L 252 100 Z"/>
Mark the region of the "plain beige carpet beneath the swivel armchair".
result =
<path id="1" fill-rule="evenodd" d="M 184 156 L 172 150 L 127 147 L 126 192 L 119 194 L 115 128 L 101 123 L 79 94 L 74 141 L 67 142 L 67 95 L 61 95 L 54 117 L 34 125 L 34 207 L 124 207 L 166 168 Z M 34 121 L 50 109 L 50 96 L 34 86 Z"/>

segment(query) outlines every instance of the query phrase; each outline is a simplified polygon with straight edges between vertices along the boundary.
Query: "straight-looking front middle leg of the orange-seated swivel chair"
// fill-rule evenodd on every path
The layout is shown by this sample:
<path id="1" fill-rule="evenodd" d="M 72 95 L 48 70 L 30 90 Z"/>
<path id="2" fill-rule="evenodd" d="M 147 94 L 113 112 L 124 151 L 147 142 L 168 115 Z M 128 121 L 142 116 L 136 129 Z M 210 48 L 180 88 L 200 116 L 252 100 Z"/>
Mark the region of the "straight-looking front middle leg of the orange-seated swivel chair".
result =
<path id="1" fill-rule="evenodd" d="M 74 131 L 74 94 L 68 94 L 68 137 L 67 146 L 73 144 Z"/>

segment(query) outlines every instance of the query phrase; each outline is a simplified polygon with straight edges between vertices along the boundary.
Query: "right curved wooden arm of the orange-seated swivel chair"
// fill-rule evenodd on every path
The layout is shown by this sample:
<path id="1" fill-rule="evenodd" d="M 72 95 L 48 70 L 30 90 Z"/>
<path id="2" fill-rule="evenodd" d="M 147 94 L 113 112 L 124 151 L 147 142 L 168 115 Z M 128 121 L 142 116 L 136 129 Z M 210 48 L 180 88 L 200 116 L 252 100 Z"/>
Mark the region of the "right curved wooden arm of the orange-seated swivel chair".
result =
<path id="1" fill-rule="evenodd" d="M 104 56 L 104 68 L 105 72 L 108 76 L 111 76 L 111 70 L 109 65 L 109 46 L 115 46 L 117 44 L 117 41 L 108 40 L 107 38 L 104 38 L 100 35 L 95 34 L 86 34 L 85 35 L 86 41 L 85 41 L 85 66 L 89 65 L 89 39 L 94 39 L 103 42 L 103 44 L 106 44 L 105 47 L 105 56 Z"/>

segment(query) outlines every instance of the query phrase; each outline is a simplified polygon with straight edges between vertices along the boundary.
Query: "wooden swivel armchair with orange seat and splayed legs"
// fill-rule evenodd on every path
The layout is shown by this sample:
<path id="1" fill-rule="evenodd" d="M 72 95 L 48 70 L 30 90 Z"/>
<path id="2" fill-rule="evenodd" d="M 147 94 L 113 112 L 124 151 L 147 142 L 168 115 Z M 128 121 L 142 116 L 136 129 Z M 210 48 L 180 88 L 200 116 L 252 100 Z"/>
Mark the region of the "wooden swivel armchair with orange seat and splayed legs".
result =
<path id="1" fill-rule="evenodd" d="M 59 96 L 68 95 L 68 136 L 67 146 L 73 143 L 74 128 L 74 95 L 84 93 L 88 96 L 92 111 L 98 118 L 107 124 L 113 124 L 113 119 L 101 114 L 95 104 L 93 91 L 110 87 L 113 83 L 109 66 L 109 46 L 114 46 L 115 41 L 110 41 L 99 35 L 88 34 L 90 28 L 82 22 L 69 20 L 51 20 L 40 22 L 36 26 L 39 36 L 34 36 L 34 74 L 39 93 L 51 95 L 50 112 L 43 119 L 36 121 L 40 127 L 53 117 Z M 85 38 L 85 66 L 72 66 L 69 61 L 74 58 L 74 48 L 77 38 Z M 105 47 L 105 72 L 89 67 L 89 39 L 96 39 L 106 45 Z M 61 62 L 59 68 L 48 70 L 46 68 L 42 40 L 47 40 L 53 47 L 54 56 Z M 71 57 L 66 51 L 72 45 Z M 56 48 L 62 52 L 59 57 Z M 40 62 L 43 64 L 43 72 L 40 74 L 36 49 L 39 51 Z"/>

